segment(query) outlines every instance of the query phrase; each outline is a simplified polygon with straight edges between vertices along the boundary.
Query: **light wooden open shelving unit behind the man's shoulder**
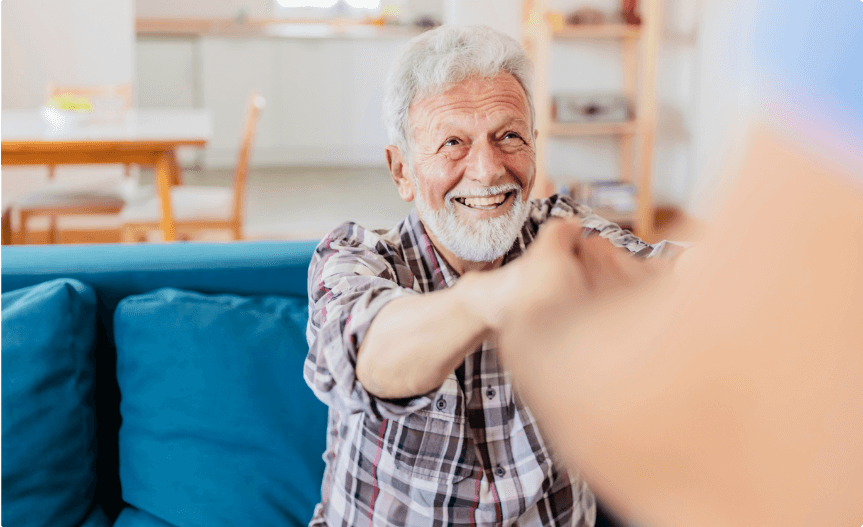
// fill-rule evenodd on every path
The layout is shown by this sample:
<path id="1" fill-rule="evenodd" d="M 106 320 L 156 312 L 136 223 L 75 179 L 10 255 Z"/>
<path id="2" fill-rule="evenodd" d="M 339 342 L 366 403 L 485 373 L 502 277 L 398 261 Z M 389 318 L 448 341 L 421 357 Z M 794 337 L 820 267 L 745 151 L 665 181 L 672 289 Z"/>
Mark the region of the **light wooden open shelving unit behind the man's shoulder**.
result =
<path id="1" fill-rule="evenodd" d="M 638 190 L 637 208 L 630 223 L 650 240 L 653 234 L 651 166 L 656 128 L 656 60 L 659 49 L 661 0 L 641 0 L 641 25 L 602 24 L 553 28 L 547 0 L 524 0 L 524 45 L 534 62 L 537 175 L 534 197 L 554 192 L 548 176 L 548 140 L 560 136 L 615 136 L 618 138 L 619 180 Z M 549 89 L 551 46 L 554 41 L 619 41 L 623 53 L 623 86 L 634 108 L 634 118 L 623 123 L 557 123 L 552 119 Z M 609 218 L 610 219 L 610 218 Z M 621 218 L 615 218 L 621 220 Z M 627 218 L 622 218 L 623 220 Z M 627 223 L 627 222 L 624 222 Z"/>

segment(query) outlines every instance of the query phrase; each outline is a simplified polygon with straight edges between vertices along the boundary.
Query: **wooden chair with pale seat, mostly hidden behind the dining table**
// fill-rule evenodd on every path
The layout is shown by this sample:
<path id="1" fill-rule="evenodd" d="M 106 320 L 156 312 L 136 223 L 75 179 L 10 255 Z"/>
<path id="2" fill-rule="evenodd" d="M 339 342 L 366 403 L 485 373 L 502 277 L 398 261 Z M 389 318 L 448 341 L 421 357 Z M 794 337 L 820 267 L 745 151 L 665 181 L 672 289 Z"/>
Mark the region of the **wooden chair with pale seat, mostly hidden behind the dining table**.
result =
<path id="1" fill-rule="evenodd" d="M 132 87 L 130 84 L 110 86 L 48 85 L 49 98 L 64 93 L 73 93 L 94 100 L 113 99 L 119 103 L 117 110 L 128 110 L 132 106 Z M 94 108 L 95 111 L 96 108 Z M 128 164 L 125 165 L 125 176 L 126 178 L 132 177 L 131 166 Z M 48 180 L 49 185 L 47 187 L 24 196 L 17 203 L 21 215 L 21 243 L 27 243 L 28 223 L 33 217 L 48 216 L 50 218 L 48 243 L 57 243 L 59 241 L 58 216 L 119 214 L 126 200 L 131 197 L 130 190 L 134 192 L 134 188 L 137 186 L 134 181 L 128 181 L 126 185 L 123 185 L 121 181 L 100 181 L 91 185 L 83 185 L 80 188 L 76 188 L 74 185 L 58 185 L 53 165 L 48 167 Z M 93 188 L 94 186 L 102 186 L 103 188 Z"/>

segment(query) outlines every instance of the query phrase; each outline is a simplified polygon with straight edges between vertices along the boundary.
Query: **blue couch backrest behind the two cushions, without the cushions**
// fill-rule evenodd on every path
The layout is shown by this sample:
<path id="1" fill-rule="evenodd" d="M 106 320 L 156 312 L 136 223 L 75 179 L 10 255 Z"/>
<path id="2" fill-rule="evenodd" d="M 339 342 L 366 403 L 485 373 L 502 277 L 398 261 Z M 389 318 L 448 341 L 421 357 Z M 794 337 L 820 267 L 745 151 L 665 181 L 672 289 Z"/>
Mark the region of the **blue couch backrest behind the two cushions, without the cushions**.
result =
<path id="1" fill-rule="evenodd" d="M 55 278 L 91 285 L 98 297 L 95 353 L 96 502 L 112 520 L 123 505 L 117 467 L 120 391 L 113 316 L 129 295 L 162 287 L 207 294 L 307 296 L 316 241 L 142 245 L 3 246 L 2 292 Z"/>

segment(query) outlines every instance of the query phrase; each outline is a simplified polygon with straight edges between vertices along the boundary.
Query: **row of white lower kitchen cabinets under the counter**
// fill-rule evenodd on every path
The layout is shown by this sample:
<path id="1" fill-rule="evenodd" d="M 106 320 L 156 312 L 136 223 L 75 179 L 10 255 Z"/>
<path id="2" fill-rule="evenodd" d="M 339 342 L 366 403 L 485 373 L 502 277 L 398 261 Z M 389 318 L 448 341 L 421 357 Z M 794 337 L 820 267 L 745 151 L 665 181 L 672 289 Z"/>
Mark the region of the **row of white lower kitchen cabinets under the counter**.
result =
<path id="1" fill-rule="evenodd" d="M 407 40 L 139 37 L 136 103 L 210 109 L 206 167 L 234 166 L 252 91 L 267 99 L 253 165 L 383 165 L 383 84 Z"/>

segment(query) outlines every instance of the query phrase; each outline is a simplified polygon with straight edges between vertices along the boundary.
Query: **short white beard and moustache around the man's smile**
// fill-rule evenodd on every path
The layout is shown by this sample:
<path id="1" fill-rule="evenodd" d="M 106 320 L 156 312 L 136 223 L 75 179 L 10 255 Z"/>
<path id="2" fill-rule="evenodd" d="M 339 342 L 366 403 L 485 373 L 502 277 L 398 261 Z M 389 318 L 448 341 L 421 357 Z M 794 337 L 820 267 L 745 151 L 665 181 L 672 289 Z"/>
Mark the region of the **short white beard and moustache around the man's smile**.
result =
<path id="1" fill-rule="evenodd" d="M 414 178 L 416 207 L 423 225 L 448 251 L 468 262 L 493 262 L 505 255 L 530 214 L 530 205 L 521 199 L 521 187 L 514 183 L 469 194 L 447 192 L 446 209 L 442 210 L 431 210 L 416 183 Z M 515 193 L 512 207 L 503 216 L 467 223 L 456 212 L 455 197 L 493 196 L 502 192 Z"/>

